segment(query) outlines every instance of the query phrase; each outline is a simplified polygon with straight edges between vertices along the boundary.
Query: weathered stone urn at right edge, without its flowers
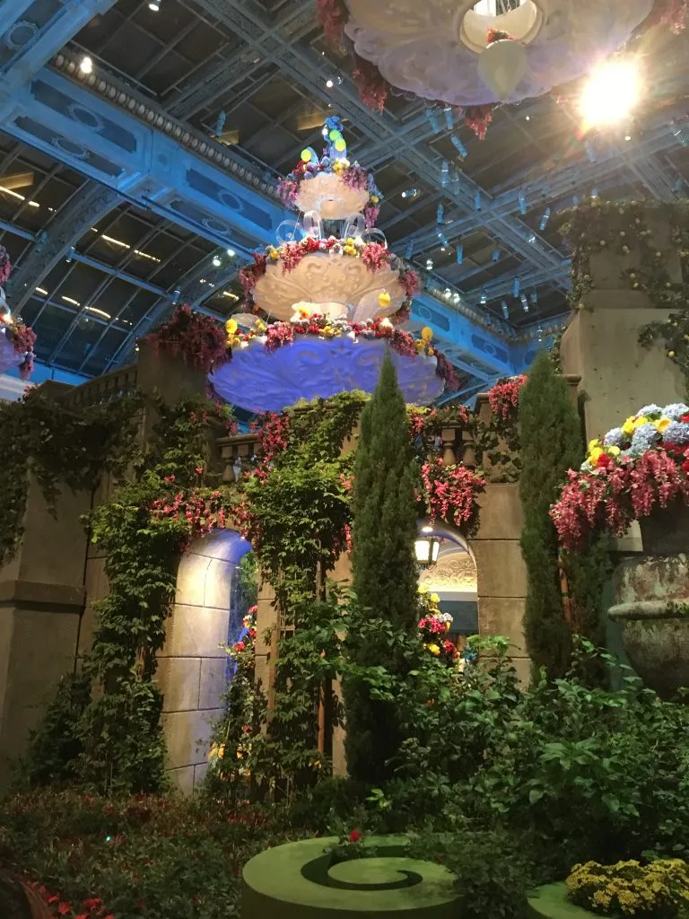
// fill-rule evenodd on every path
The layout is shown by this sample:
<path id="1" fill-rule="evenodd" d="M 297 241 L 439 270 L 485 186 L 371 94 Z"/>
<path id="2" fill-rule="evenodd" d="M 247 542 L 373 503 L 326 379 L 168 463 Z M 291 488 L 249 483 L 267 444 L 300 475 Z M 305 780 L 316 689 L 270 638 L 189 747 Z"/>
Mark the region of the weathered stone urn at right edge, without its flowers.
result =
<path id="1" fill-rule="evenodd" d="M 616 569 L 616 605 L 629 663 L 661 698 L 689 687 L 689 508 L 639 520 L 644 554 Z"/>

